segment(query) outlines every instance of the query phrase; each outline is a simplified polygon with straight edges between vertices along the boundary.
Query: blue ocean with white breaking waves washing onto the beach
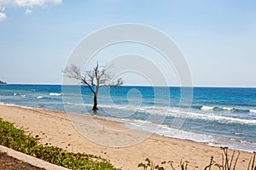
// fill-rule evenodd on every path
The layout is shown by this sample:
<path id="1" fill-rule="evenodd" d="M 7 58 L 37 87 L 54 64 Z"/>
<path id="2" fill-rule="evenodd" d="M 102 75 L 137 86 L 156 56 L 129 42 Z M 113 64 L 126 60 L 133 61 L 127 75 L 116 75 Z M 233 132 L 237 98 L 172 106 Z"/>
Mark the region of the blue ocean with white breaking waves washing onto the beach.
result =
<path id="1" fill-rule="evenodd" d="M 102 87 L 97 115 L 172 138 L 256 151 L 256 88 L 191 89 L 191 105 L 181 105 L 178 87 Z M 83 86 L 0 85 L 1 105 L 93 115 L 92 102 Z"/>

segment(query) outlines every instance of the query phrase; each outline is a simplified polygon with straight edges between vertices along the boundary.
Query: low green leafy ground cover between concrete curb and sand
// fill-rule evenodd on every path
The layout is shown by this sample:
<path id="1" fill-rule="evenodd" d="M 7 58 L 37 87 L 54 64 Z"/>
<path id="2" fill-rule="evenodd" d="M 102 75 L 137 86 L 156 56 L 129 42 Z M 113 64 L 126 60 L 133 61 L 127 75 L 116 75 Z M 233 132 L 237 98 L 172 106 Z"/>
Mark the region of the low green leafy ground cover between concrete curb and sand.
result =
<path id="1" fill-rule="evenodd" d="M 55 146 L 38 144 L 37 139 L 26 135 L 23 130 L 15 128 L 13 123 L 5 122 L 1 118 L 0 144 L 70 169 L 117 169 L 100 156 L 67 152 Z"/>

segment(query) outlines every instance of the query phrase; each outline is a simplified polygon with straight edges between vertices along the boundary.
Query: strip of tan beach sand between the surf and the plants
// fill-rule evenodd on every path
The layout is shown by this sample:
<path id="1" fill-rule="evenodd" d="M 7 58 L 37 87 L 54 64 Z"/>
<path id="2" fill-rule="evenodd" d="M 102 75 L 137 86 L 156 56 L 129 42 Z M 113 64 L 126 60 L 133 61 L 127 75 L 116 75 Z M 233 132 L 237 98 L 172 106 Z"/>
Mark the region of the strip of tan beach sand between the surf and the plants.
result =
<path id="1" fill-rule="evenodd" d="M 42 144 L 102 156 L 122 169 L 139 169 L 137 165 L 147 157 L 155 164 L 174 161 L 176 167 L 181 159 L 188 160 L 189 169 L 204 169 L 211 156 L 219 163 L 222 160 L 223 151 L 218 147 L 142 133 L 123 127 L 121 122 L 97 116 L 0 105 L 0 117 L 14 122 L 15 127 L 24 129 L 34 137 L 38 135 Z M 84 133 L 90 135 L 85 138 Z M 229 153 L 232 151 L 229 150 Z M 240 151 L 236 169 L 247 169 L 251 156 L 252 153 Z"/>

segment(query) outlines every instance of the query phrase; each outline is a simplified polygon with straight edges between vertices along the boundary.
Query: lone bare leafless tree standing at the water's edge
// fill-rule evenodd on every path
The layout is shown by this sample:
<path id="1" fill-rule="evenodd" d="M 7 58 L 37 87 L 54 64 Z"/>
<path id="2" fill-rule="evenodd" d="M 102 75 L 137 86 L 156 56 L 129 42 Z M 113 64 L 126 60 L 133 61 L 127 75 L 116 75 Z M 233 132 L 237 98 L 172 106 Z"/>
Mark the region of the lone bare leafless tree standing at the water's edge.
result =
<path id="1" fill-rule="evenodd" d="M 66 77 L 74 80 L 79 80 L 83 83 L 85 87 L 90 88 L 91 93 L 94 95 L 94 105 L 92 110 L 96 111 L 97 108 L 97 95 L 99 88 L 103 86 L 107 87 L 118 87 L 124 82 L 121 78 L 113 80 L 113 76 L 109 73 L 107 66 L 100 66 L 97 62 L 96 67 L 91 71 L 81 72 L 79 67 L 76 65 L 71 65 L 63 71 Z"/>

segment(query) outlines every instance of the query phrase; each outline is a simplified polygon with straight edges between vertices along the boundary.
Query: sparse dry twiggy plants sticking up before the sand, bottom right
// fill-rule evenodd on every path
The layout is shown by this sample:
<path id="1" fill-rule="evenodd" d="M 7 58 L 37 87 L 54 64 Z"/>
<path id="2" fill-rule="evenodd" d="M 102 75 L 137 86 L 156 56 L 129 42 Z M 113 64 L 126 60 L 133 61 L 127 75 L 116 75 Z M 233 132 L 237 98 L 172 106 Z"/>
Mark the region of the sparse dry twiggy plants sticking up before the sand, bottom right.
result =
<path id="1" fill-rule="evenodd" d="M 233 151 L 233 154 L 230 156 L 228 154 L 229 149 L 227 147 L 221 148 L 223 150 L 222 154 L 222 162 L 218 163 L 213 160 L 213 156 L 210 159 L 210 163 L 204 168 L 204 170 L 212 170 L 212 167 L 217 167 L 218 170 L 236 170 L 236 164 L 238 161 L 238 158 L 240 156 L 240 152 L 236 154 L 236 151 Z M 247 170 L 256 170 L 256 152 L 253 152 L 253 156 L 251 157 L 251 160 L 248 163 Z M 143 170 L 177 170 L 177 168 L 174 167 L 173 161 L 162 161 L 160 165 L 155 165 L 153 161 L 150 159 L 146 159 L 145 162 L 141 162 L 138 164 L 137 167 L 142 167 Z M 181 160 L 178 169 L 180 170 L 189 170 L 189 161 L 183 161 Z M 196 167 L 198 168 L 198 167 Z M 244 168 L 246 170 L 246 167 Z"/>

